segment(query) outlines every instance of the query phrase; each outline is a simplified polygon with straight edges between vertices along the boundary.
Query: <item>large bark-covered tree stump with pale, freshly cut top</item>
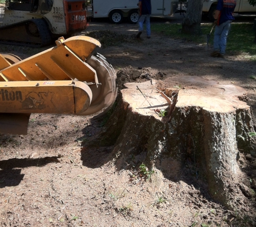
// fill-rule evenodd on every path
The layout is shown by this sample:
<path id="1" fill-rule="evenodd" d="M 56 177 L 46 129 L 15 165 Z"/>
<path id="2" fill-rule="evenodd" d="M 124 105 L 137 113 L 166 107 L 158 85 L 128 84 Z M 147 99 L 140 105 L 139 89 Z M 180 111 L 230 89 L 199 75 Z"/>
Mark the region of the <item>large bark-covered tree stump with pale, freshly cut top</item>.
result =
<path id="1" fill-rule="evenodd" d="M 254 117 L 244 102 L 246 91 L 196 76 L 124 85 L 127 89 L 121 90 L 100 134 L 102 146 L 114 145 L 116 165 L 144 162 L 171 180 L 180 179 L 182 169 L 191 167 L 191 178 L 206 182 L 213 198 L 237 209 L 246 200 L 240 152 L 255 151 L 255 139 L 249 136 Z M 156 88 L 165 90 L 170 100 L 178 92 L 171 114 L 170 103 Z"/>

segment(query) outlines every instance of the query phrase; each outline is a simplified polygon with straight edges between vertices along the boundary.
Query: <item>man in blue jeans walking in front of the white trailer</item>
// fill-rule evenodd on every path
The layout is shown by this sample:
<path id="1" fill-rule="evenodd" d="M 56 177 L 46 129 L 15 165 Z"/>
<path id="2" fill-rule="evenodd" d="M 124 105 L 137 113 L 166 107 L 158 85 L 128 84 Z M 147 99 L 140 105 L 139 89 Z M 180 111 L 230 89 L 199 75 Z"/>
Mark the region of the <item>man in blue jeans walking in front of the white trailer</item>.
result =
<path id="1" fill-rule="evenodd" d="M 139 8 L 140 8 L 140 18 L 139 18 L 139 33 L 137 34 L 137 38 L 140 38 L 141 33 L 143 31 L 143 23 L 146 20 L 146 31 L 148 39 L 151 36 L 150 30 L 150 14 L 151 14 L 151 1 L 150 0 L 139 0 Z"/>

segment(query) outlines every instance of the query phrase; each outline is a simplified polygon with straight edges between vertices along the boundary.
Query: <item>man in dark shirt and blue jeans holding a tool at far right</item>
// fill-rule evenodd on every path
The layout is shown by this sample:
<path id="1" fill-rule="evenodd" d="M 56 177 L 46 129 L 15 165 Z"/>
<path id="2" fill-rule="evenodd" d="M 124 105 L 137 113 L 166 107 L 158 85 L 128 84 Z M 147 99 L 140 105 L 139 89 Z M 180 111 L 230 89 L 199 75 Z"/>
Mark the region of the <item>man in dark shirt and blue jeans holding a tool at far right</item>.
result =
<path id="1" fill-rule="evenodd" d="M 213 39 L 214 51 L 211 53 L 213 57 L 224 58 L 227 34 L 231 27 L 231 22 L 234 20 L 233 12 L 236 8 L 236 0 L 218 0 L 215 11 L 216 27 Z"/>

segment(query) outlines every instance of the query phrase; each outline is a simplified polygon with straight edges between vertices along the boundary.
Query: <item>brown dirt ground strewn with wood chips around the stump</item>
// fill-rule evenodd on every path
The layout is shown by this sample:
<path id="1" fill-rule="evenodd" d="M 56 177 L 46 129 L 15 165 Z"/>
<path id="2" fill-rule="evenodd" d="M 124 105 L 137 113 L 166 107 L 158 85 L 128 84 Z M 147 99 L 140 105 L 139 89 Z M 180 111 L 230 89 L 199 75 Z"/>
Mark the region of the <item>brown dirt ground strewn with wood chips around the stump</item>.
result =
<path id="1" fill-rule="evenodd" d="M 137 25 L 127 23 L 91 22 L 87 32 L 99 39 L 111 34 L 114 43 L 96 52 L 115 68 L 119 89 L 125 82 L 201 76 L 243 87 L 256 111 L 256 65 L 246 54 L 212 58 L 211 46 L 154 33 L 137 40 Z M 43 49 L 0 45 L 22 59 Z M 108 158 L 112 147 L 86 146 L 103 120 L 32 114 L 26 136 L 0 135 L 0 226 L 256 226 L 255 207 L 226 210 L 207 191 L 158 169 L 148 180 L 133 166 L 117 171 Z M 244 158 L 243 181 L 254 189 L 245 194 L 255 204 L 256 154 Z"/>

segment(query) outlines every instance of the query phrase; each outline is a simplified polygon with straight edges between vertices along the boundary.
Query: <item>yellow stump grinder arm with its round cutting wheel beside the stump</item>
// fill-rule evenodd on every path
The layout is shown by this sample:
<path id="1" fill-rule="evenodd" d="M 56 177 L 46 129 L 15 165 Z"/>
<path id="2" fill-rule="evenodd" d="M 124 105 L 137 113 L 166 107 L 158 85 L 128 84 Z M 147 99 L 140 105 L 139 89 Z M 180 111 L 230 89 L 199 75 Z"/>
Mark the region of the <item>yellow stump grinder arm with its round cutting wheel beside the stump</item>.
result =
<path id="1" fill-rule="evenodd" d="M 113 67 L 92 55 L 98 40 L 77 36 L 21 60 L 0 54 L 0 133 L 26 134 L 31 113 L 106 112 L 117 93 Z"/>

